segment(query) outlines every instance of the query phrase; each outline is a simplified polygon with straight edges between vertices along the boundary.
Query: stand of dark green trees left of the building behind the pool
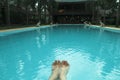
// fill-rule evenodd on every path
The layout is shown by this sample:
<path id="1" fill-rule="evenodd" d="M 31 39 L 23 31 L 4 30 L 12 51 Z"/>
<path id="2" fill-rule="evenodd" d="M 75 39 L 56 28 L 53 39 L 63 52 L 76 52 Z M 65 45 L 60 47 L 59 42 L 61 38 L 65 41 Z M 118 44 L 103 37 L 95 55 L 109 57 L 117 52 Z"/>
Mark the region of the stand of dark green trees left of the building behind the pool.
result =
<path id="1" fill-rule="evenodd" d="M 38 5 L 36 5 L 38 4 Z M 3 6 L 3 7 L 1 7 Z M 0 18 L 4 24 L 29 24 L 33 17 L 45 24 L 52 21 L 52 13 L 57 10 L 55 0 L 0 0 Z M 34 18 L 37 20 L 37 17 Z"/>

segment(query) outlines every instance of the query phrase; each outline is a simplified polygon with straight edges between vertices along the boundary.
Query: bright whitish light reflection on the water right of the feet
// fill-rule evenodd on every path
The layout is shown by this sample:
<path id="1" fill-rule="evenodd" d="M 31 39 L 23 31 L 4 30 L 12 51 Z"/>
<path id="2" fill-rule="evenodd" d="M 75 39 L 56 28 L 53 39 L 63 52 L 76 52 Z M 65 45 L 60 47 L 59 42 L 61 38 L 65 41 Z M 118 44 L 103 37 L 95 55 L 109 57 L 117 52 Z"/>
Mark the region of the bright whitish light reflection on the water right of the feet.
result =
<path id="1" fill-rule="evenodd" d="M 96 58 L 92 61 L 91 55 L 83 50 L 57 48 L 54 55 L 56 60 L 69 61 L 68 80 L 119 80 L 120 78 L 120 70 L 113 68 L 110 73 L 107 73 L 103 69 L 106 66 L 104 60 Z"/>

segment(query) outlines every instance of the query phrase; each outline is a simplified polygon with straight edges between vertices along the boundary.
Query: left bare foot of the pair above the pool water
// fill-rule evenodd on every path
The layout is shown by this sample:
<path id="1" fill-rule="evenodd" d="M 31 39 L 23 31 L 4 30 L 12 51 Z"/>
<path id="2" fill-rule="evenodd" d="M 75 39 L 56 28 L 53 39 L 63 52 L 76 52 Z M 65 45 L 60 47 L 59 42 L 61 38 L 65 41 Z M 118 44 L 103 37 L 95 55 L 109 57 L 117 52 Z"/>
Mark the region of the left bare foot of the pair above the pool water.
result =
<path id="1" fill-rule="evenodd" d="M 59 60 L 56 60 L 52 64 L 52 74 L 51 74 L 49 80 L 56 80 L 59 77 L 60 66 L 61 66 L 61 63 Z"/>

